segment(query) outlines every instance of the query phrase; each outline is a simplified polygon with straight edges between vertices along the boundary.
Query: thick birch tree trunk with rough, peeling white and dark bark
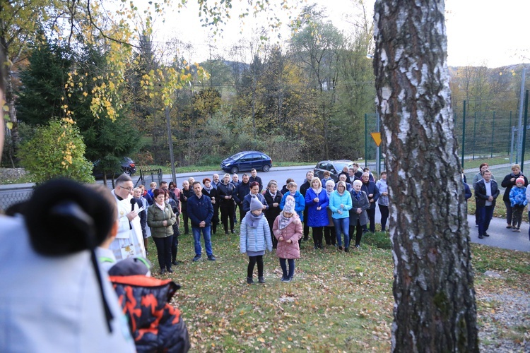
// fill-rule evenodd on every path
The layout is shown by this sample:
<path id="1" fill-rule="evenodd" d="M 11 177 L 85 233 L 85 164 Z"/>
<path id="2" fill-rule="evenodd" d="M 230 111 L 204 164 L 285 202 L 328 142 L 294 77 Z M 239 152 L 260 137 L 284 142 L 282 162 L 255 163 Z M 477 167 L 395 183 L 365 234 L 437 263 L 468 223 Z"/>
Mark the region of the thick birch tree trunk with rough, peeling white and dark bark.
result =
<path id="1" fill-rule="evenodd" d="M 393 352 L 478 352 L 443 0 L 377 0 L 377 109 L 390 191 Z"/>

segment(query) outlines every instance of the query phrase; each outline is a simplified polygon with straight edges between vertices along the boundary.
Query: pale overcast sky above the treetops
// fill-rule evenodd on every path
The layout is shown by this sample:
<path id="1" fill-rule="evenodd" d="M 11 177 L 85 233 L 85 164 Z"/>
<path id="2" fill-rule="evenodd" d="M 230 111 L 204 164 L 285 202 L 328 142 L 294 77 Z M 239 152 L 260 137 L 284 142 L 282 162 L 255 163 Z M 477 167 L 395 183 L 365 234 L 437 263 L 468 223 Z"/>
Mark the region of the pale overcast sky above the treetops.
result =
<path id="1" fill-rule="evenodd" d="M 140 0 L 142 1 L 142 0 Z M 147 0 L 143 0 L 146 1 Z M 278 0 L 272 0 L 272 2 Z M 291 0 L 293 1 L 293 0 Z M 239 1 L 233 0 L 235 13 L 241 6 Z M 314 0 L 326 8 L 329 19 L 339 30 L 348 31 L 352 14 L 358 13 L 358 6 L 354 0 Z M 160 41 L 170 37 L 179 37 L 194 44 L 195 61 L 208 58 L 208 42 L 214 46 L 213 54 L 227 56 L 225 50 L 232 46 L 242 36 L 249 36 L 252 28 L 259 28 L 265 23 L 264 18 L 246 18 L 241 24 L 237 16 L 223 29 L 223 37 L 212 39 L 211 30 L 201 27 L 196 1 L 189 0 L 187 9 L 181 13 L 171 13 L 165 23 L 156 23 L 155 37 Z M 245 4 L 244 1 L 243 4 Z M 367 9 L 373 12 L 373 0 L 367 0 Z M 530 10 L 529 0 L 447 0 L 446 24 L 449 66 L 486 65 L 489 67 L 505 66 L 529 62 L 530 40 L 526 33 L 526 16 Z M 282 13 L 282 11 L 276 11 Z M 283 13 L 285 23 L 287 14 Z M 240 35 L 240 30 L 243 34 Z M 288 31 L 283 31 L 288 37 Z"/>

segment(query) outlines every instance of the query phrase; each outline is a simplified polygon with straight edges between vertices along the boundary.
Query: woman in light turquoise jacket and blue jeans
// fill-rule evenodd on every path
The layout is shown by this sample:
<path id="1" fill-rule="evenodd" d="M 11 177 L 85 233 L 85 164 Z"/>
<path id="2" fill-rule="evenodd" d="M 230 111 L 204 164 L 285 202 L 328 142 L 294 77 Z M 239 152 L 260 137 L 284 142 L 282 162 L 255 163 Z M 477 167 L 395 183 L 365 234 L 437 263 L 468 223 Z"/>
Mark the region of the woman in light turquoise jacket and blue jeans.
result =
<path id="1" fill-rule="evenodd" d="M 348 252 L 350 246 L 349 211 L 351 210 L 351 195 L 346 191 L 346 183 L 344 181 L 338 181 L 337 189 L 329 197 L 328 207 L 331 210 L 331 217 L 335 225 L 338 250 L 342 250 L 342 233 L 344 234 L 344 251 Z"/>

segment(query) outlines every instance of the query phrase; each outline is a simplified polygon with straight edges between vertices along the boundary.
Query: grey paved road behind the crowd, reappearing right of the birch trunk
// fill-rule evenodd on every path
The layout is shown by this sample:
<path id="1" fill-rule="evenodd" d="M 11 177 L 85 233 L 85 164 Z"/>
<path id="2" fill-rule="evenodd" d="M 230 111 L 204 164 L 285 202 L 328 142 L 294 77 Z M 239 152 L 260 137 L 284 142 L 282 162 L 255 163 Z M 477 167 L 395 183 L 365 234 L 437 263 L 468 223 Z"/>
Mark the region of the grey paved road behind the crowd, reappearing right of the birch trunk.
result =
<path id="1" fill-rule="evenodd" d="M 268 173 L 259 172 L 258 175 L 264 182 L 264 185 L 269 183 L 271 179 L 275 179 L 278 185 L 283 186 L 287 178 L 293 178 L 298 183 L 298 186 L 302 184 L 305 179 L 305 173 L 308 170 L 313 169 L 313 165 L 300 166 L 300 167 L 273 167 Z M 224 172 L 194 172 L 194 173 L 182 173 L 177 174 L 177 185 L 181 186 L 182 181 L 187 180 L 189 177 L 194 177 L 196 180 L 202 181 L 203 178 L 211 178 L 213 173 L 218 173 L 221 177 Z M 239 174 L 240 179 L 242 173 Z M 139 179 L 138 176 L 133 177 L 134 182 Z M 170 175 L 164 175 L 163 180 L 170 181 Z M 101 182 L 101 181 L 100 181 Z M 0 185 L 0 197 L 2 195 L 16 194 L 24 195 L 29 193 L 33 184 L 16 184 L 16 185 Z M 376 208 L 376 222 L 379 222 L 381 215 L 379 209 Z M 506 229 L 505 220 L 501 218 L 493 218 L 490 223 L 490 229 L 488 234 L 490 237 L 484 239 L 478 239 L 478 231 L 475 227 L 475 216 L 468 216 L 469 229 L 471 241 L 474 243 L 485 244 L 490 246 L 496 246 L 502 249 L 519 250 L 530 252 L 530 241 L 529 241 L 529 223 L 524 222 L 521 226 L 521 233 L 512 232 L 512 229 Z"/>

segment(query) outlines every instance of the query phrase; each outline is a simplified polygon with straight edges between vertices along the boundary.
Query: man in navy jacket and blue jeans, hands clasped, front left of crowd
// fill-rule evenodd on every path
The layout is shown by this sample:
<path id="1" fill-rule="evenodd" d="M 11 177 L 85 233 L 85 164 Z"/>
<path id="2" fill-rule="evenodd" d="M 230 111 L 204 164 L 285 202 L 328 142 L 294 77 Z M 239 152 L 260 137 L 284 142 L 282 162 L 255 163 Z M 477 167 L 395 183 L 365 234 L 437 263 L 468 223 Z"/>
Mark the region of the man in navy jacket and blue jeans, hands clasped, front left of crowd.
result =
<path id="1" fill-rule="evenodd" d="M 201 259 L 201 231 L 204 237 L 204 247 L 208 260 L 216 261 L 211 248 L 210 224 L 213 217 L 213 205 L 211 198 L 202 194 L 202 186 L 199 181 L 193 183 L 194 196 L 188 198 L 188 217 L 192 222 L 192 233 L 195 243 L 195 257 L 193 261 Z"/>

